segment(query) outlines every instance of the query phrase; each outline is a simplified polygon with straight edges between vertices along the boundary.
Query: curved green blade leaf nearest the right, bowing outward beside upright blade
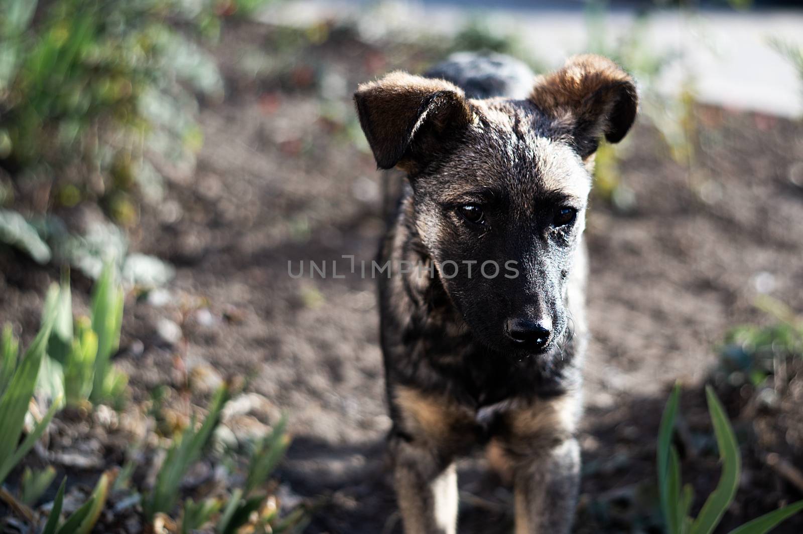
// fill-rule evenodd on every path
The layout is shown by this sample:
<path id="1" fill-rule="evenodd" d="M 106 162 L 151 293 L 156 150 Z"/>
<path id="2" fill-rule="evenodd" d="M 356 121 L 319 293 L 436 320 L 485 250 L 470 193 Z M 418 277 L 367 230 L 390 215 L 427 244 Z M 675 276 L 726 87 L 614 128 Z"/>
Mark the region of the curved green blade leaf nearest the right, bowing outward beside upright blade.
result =
<path id="1" fill-rule="evenodd" d="M 719 459 L 722 460 L 722 475 L 719 476 L 714 492 L 708 496 L 699 516 L 691 525 L 691 534 L 711 534 L 719 524 L 728 506 L 736 496 L 741 471 L 741 455 L 733 428 L 728 421 L 728 415 L 719 398 L 716 398 L 714 389 L 706 386 L 708 411 L 711 413 L 711 423 L 714 424 L 714 434 L 719 447 Z"/>

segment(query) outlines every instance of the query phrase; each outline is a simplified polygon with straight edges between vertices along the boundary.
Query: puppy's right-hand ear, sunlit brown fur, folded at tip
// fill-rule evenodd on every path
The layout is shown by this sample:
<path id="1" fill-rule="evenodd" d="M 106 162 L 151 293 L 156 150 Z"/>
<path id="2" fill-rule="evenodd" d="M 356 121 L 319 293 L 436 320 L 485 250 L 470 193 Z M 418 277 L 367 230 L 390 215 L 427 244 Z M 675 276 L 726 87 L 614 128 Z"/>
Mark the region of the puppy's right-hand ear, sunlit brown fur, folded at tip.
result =
<path id="1" fill-rule="evenodd" d="M 541 76 L 530 99 L 568 130 L 584 160 L 596 152 L 601 136 L 611 143 L 621 141 L 638 108 L 633 79 L 599 55 L 576 55 L 559 71 Z"/>

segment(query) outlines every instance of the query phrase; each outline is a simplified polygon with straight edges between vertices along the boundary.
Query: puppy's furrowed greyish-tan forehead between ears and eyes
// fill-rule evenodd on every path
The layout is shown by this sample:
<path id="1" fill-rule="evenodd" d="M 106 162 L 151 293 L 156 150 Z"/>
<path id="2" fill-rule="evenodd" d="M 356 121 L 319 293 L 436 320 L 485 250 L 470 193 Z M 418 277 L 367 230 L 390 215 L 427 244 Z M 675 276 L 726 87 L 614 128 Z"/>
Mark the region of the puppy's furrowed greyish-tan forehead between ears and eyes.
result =
<path id="1" fill-rule="evenodd" d="M 455 163 L 475 184 L 517 196 L 560 192 L 585 199 L 591 180 L 577 152 L 552 135 L 550 121 L 526 100 L 472 101 L 475 118 Z"/>

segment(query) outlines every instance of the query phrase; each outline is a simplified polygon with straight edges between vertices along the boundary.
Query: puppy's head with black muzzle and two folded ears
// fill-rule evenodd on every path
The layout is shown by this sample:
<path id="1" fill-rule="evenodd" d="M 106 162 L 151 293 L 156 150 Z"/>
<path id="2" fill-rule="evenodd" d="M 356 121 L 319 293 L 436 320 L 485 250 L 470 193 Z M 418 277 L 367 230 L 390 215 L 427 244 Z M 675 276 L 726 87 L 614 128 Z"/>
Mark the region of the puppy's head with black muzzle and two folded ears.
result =
<path id="1" fill-rule="evenodd" d="M 528 99 L 473 100 L 394 72 L 355 101 L 377 165 L 408 172 L 414 225 L 471 331 L 496 350 L 550 350 L 569 322 L 593 154 L 635 119 L 630 76 L 582 55 Z"/>

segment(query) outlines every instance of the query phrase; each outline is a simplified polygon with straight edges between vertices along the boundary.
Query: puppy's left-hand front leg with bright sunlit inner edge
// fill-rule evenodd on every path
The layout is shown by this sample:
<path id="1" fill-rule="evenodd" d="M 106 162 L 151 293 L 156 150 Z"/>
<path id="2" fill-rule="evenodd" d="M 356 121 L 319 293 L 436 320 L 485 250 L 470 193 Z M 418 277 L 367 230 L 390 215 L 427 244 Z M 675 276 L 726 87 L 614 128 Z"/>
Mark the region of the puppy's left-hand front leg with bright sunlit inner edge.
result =
<path id="1" fill-rule="evenodd" d="M 451 459 L 394 438 L 393 485 L 406 534 L 457 532 L 457 471 Z"/>

